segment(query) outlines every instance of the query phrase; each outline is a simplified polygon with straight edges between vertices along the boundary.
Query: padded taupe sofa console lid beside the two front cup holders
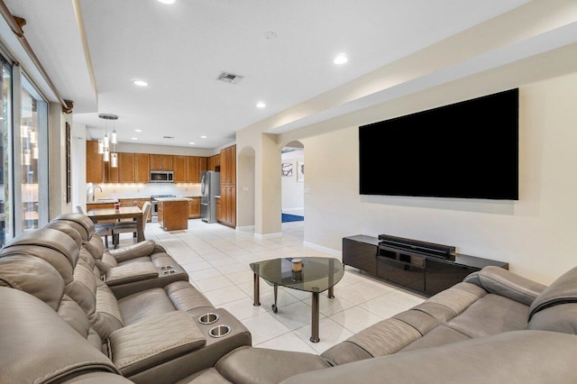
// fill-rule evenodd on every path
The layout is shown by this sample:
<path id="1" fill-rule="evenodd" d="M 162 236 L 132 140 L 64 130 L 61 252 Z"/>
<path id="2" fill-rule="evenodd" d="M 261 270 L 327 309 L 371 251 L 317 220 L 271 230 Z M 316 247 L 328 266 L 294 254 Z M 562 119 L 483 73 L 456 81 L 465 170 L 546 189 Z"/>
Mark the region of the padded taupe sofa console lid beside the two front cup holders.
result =
<path id="1" fill-rule="evenodd" d="M 110 334 L 110 354 L 124 376 L 176 359 L 206 343 L 186 312 L 174 311 L 127 325 Z"/>

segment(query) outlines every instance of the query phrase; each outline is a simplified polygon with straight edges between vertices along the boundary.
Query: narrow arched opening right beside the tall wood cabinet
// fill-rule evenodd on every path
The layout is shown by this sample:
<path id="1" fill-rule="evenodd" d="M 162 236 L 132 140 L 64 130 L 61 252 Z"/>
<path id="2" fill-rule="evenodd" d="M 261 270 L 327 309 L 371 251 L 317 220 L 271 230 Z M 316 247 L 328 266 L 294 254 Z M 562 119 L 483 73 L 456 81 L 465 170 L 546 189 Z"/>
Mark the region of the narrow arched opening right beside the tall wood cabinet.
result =
<path id="1" fill-rule="evenodd" d="M 255 152 L 252 147 L 243 147 L 237 156 L 236 168 L 239 184 L 236 187 L 236 229 L 251 231 L 254 229 L 255 210 Z"/>

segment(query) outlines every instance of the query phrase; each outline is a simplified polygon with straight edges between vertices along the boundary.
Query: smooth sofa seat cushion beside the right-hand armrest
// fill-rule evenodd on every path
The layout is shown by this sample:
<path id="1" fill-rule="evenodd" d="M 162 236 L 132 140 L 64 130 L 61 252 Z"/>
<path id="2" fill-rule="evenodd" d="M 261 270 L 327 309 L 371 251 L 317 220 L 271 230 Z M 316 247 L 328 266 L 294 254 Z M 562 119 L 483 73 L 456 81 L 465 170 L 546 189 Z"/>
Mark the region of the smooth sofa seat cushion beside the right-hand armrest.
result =
<path id="1" fill-rule="evenodd" d="M 482 337 L 527 326 L 528 306 L 507 297 L 489 294 L 446 323 L 469 337 Z"/>

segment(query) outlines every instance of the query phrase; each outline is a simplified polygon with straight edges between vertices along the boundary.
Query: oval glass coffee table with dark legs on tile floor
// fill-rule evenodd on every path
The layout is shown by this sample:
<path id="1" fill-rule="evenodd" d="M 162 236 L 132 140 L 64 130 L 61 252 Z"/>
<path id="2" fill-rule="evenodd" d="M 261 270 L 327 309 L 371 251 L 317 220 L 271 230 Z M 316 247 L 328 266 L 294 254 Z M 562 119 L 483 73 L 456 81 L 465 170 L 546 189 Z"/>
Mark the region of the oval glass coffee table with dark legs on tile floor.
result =
<path id="1" fill-rule="evenodd" d="M 274 313 L 279 311 L 277 297 L 279 286 L 303 290 L 313 294 L 310 341 L 318 343 L 318 294 L 328 289 L 328 297 L 334 298 L 334 285 L 343 279 L 341 261 L 327 257 L 303 257 L 302 269 L 293 271 L 293 258 L 273 259 L 251 263 L 254 272 L 254 306 L 261 305 L 259 277 L 274 287 Z"/>

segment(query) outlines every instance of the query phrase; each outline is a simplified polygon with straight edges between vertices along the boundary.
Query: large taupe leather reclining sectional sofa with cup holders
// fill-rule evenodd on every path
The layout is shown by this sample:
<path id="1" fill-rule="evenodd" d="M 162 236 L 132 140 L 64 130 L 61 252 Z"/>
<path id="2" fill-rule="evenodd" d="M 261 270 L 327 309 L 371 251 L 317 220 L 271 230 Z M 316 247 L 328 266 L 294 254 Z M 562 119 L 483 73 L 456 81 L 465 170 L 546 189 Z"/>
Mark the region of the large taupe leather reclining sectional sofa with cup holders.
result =
<path id="1" fill-rule="evenodd" d="M 0 251 L 0 382 L 572 383 L 576 334 L 577 268 L 545 287 L 488 267 L 315 355 L 252 347 L 159 245 L 107 251 L 83 215 Z"/>

